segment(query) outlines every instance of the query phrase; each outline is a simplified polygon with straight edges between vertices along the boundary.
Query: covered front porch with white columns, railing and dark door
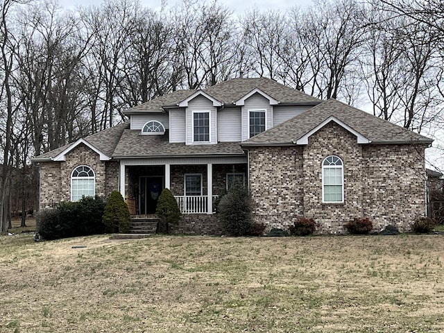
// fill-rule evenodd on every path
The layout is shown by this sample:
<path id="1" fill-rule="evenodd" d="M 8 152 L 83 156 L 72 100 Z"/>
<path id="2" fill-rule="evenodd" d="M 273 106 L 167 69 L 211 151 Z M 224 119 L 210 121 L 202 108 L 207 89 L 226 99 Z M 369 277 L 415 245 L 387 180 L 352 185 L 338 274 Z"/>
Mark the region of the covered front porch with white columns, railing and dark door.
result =
<path id="1" fill-rule="evenodd" d="M 155 214 L 157 199 L 162 189 L 168 188 L 182 214 L 213 214 L 219 196 L 233 182 L 248 185 L 245 157 L 206 158 L 206 164 L 202 160 L 170 159 L 162 161 L 170 162 L 164 164 L 155 159 L 121 160 L 120 191 L 130 213 Z"/>

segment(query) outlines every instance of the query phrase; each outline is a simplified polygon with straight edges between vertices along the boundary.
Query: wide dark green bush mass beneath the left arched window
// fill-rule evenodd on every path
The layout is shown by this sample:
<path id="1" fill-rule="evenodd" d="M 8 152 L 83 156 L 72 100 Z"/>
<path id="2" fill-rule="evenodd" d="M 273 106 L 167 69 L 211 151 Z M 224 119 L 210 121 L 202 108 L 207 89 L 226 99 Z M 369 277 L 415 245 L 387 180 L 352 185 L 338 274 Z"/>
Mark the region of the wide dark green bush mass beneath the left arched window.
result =
<path id="1" fill-rule="evenodd" d="M 52 210 L 42 210 L 37 216 L 37 232 L 42 239 L 101 234 L 105 203 L 96 196 L 83 197 L 76 202 L 62 202 Z"/>

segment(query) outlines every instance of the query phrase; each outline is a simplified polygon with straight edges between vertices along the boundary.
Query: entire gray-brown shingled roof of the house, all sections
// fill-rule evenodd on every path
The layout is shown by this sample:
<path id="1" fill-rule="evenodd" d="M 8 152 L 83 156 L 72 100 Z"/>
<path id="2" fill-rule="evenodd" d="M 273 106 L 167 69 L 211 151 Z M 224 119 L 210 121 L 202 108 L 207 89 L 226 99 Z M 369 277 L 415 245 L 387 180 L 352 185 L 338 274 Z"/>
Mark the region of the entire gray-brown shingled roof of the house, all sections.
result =
<path id="1" fill-rule="evenodd" d="M 308 111 L 281 123 L 264 133 L 256 135 L 242 143 L 248 145 L 262 144 L 291 144 L 293 140 L 300 139 L 310 130 L 318 126 L 325 119 L 334 116 L 347 124 L 372 142 L 432 142 L 431 139 L 417 133 L 396 126 L 364 111 L 352 108 L 350 105 L 334 99 L 320 101 L 313 96 L 298 92 L 296 89 L 286 87 L 269 78 L 235 78 L 219 83 L 204 91 L 225 105 L 233 103 L 243 96 L 260 89 L 280 103 L 308 103 L 316 105 Z M 162 107 L 177 105 L 194 94 L 196 90 L 178 90 L 165 96 L 153 99 L 134 108 L 131 112 L 163 111 Z M 85 140 L 100 151 L 112 157 L 150 157 L 150 156 L 187 156 L 187 155 L 243 155 L 241 146 L 236 142 L 223 142 L 219 144 L 185 145 L 170 144 L 168 134 L 141 135 L 139 130 L 130 130 L 130 123 L 126 121 L 107 130 L 85 137 Z M 35 157 L 38 160 L 50 160 L 68 148 L 67 144 L 60 148 Z"/>

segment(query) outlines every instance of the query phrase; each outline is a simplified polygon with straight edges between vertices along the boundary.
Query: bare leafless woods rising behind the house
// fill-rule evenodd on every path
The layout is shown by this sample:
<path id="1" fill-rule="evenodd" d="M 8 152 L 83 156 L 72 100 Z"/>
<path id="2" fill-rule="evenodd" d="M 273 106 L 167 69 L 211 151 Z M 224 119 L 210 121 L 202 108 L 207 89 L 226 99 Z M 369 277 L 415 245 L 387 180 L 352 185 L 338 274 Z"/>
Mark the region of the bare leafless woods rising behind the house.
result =
<path id="1" fill-rule="evenodd" d="M 135 0 L 76 10 L 42 0 L 0 5 L 1 231 L 11 213 L 36 208 L 31 156 L 123 121 L 126 108 L 240 73 L 371 105 L 377 117 L 427 135 L 443 121 L 440 0 L 240 14 L 187 0 L 161 10 Z"/>

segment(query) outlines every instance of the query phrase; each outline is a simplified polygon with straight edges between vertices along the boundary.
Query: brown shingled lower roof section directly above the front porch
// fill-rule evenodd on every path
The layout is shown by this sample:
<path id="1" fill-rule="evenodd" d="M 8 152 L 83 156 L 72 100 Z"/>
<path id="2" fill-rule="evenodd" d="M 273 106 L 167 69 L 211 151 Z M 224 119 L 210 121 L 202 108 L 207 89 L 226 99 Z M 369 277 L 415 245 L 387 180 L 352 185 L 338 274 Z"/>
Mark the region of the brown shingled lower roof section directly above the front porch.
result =
<path id="1" fill-rule="evenodd" d="M 168 131 L 164 135 L 141 135 L 140 130 L 124 130 L 112 157 L 184 157 L 198 155 L 245 156 L 237 142 L 219 144 L 170 144 Z"/>

